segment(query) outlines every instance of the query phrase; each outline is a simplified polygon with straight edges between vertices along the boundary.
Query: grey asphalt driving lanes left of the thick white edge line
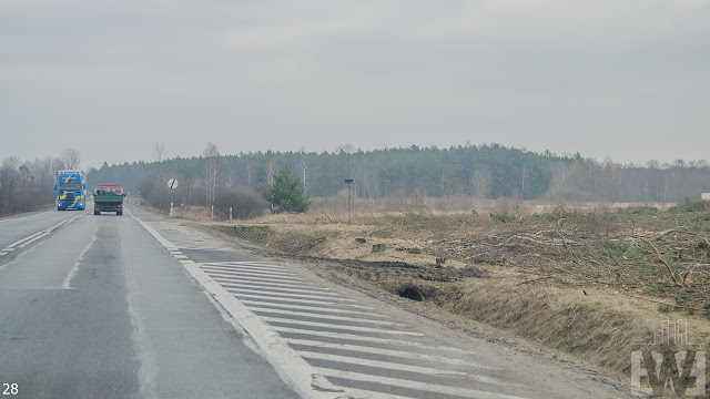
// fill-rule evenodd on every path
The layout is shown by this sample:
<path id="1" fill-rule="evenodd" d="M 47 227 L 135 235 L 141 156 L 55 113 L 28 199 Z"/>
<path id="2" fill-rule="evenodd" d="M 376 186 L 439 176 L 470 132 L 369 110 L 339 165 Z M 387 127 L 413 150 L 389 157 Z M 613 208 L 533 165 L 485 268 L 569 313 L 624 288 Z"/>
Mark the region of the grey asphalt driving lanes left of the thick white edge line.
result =
<path id="1" fill-rule="evenodd" d="M 8 397 L 297 397 L 131 216 L 0 219 L 0 248 L 72 217 L 0 256 Z"/>

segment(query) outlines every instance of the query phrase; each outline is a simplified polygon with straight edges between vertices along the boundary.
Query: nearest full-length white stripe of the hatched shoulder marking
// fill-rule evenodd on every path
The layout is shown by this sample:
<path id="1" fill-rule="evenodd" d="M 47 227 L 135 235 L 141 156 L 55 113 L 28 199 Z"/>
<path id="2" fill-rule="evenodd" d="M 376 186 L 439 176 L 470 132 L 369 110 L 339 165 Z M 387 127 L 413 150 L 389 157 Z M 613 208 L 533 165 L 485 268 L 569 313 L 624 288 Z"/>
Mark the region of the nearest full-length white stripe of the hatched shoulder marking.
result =
<path id="1" fill-rule="evenodd" d="M 362 372 L 341 371 L 341 370 L 326 369 L 322 367 L 317 367 L 317 369 L 321 372 L 323 372 L 326 377 L 343 378 L 343 379 L 348 379 L 348 380 L 359 381 L 359 382 L 383 383 L 392 387 L 416 389 L 416 390 L 423 390 L 423 391 L 435 392 L 435 393 L 457 395 L 465 398 L 524 399 L 523 397 L 505 395 L 505 393 L 486 392 L 481 390 L 458 388 L 458 387 L 448 387 L 448 386 L 442 386 L 442 385 L 435 385 L 435 383 L 428 383 L 428 382 L 405 380 L 399 378 L 371 376 Z"/>

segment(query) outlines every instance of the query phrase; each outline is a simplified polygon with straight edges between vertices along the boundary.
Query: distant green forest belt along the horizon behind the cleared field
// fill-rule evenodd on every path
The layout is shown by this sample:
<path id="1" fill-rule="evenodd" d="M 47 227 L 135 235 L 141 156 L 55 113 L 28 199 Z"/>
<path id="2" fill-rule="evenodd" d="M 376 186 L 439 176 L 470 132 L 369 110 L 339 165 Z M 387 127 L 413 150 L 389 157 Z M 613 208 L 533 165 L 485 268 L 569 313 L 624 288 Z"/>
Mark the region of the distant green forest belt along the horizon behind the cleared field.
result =
<path id="1" fill-rule="evenodd" d="M 210 152 L 207 152 L 210 150 Z M 576 154 L 559 156 L 503 145 L 466 145 L 373 151 L 343 146 L 335 152 L 257 152 L 220 155 L 210 144 L 204 156 L 155 162 L 103 164 L 88 171 L 90 186 L 122 184 L 133 195 L 156 200 L 166 182 L 178 178 L 173 192 L 180 202 L 205 204 L 210 186 L 217 191 L 264 192 L 282 166 L 301 178 L 311 197 L 328 197 L 353 180 L 356 197 L 457 196 L 479 198 L 545 198 L 552 201 L 680 202 L 710 192 L 710 164 L 649 162 L 621 165 Z M 160 155 L 162 151 L 158 151 Z M 158 156 L 160 157 L 160 156 Z M 206 165 L 210 164 L 211 167 Z M 216 174 L 207 174 L 214 168 Z M 213 171 L 214 172 L 214 171 Z M 213 182 L 207 183 L 213 180 Z M 207 194 L 205 194 L 207 193 Z M 178 200 L 178 198 L 176 198 Z M 161 200 L 162 201 L 162 200 Z M 151 201 L 154 202 L 154 201 Z"/>

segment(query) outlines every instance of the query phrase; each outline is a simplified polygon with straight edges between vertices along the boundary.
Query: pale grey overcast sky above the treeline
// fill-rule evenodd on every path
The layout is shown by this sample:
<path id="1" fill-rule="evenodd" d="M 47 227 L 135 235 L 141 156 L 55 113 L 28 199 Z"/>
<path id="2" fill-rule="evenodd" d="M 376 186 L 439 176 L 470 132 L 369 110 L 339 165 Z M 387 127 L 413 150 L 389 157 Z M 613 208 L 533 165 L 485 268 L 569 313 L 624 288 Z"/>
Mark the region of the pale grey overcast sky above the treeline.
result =
<path id="1" fill-rule="evenodd" d="M 710 1 L 2 0 L 0 158 L 352 143 L 710 158 Z"/>

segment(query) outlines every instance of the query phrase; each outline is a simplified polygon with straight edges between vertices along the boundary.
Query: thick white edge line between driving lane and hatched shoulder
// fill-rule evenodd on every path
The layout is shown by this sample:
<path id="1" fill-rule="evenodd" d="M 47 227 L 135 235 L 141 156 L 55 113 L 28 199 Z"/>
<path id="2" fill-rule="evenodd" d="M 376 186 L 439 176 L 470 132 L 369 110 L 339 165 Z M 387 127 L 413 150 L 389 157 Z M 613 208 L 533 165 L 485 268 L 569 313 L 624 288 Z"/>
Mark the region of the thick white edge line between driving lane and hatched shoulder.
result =
<path id="1" fill-rule="evenodd" d="M 155 232 L 143 221 L 133 216 L 143 228 L 145 228 L 164 247 L 173 247 L 160 233 Z M 352 397 L 345 388 L 336 387 L 324 378 L 313 366 L 308 365 L 298 354 L 291 349 L 272 328 L 270 328 L 260 317 L 256 317 L 248 308 L 242 305 L 234 295 L 227 293 L 217 282 L 212 279 L 195 263 L 183 265 L 184 268 L 197 280 L 197 283 L 210 293 L 210 295 L 222 307 L 234 317 L 234 319 L 252 337 L 256 345 L 271 358 L 275 368 L 283 371 L 292 382 L 294 390 L 301 396 L 315 399 L 336 399 Z M 283 376 L 283 375 L 282 375 Z"/>

